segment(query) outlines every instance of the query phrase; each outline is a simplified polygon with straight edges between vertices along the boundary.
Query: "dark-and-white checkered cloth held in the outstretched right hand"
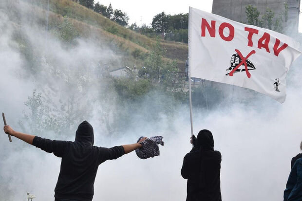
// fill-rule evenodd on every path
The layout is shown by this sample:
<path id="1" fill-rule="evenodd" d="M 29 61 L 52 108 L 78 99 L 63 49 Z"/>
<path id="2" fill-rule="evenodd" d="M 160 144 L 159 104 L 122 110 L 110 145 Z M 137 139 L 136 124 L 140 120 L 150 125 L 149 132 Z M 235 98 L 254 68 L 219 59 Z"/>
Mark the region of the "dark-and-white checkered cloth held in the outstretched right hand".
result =
<path id="1" fill-rule="evenodd" d="M 140 141 L 140 139 L 142 138 L 143 136 L 138 138 L 137 142 Z M 141 142 L 140 144 L 142 145 L 142 147 L 135 149 L 135 153 L 138 156 L 138 158 L 148 159 L 150 157 L 153 158 L 154 156 L 159 156 L 158 144 L 164 146 L 165 143 L 162 141 L 163 138 L 164 137 L 162 136 L 155 136 Z"/>

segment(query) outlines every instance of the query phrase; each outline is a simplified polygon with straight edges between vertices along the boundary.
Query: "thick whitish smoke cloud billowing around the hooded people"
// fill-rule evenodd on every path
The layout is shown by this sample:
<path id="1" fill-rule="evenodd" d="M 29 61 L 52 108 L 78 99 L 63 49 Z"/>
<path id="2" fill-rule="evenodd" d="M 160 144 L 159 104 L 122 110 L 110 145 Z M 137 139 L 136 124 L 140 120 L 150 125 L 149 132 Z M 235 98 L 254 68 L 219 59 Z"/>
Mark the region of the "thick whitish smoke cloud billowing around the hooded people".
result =
<path id="1" fill-rule="evenodd" d="M 94 127 L 95 145 L 105 147 L 132 144 L 140 136 L 162 135 L 165 146 L 160 146 L 158 157 L 141 160 L 133 152 L 101 164 L 94 183 L 94 200 L 185 200 L 186 180 L 181 177 L 180 169 L 191 148 L 188 106 L 173 103 L 155 91 L 139 103 L 132 103 L 133 112 L 114 122 L 114 115 L 130 106 L 119 106 L 111 83 L 98 76 L 98 69 L 102 68 L 98 65 L 100 60 L 106 63 L 119 59 L 113 51 L 87 38 L 77 38 L 74 47 L 66 48 L 56 35 L 46 33 L 45 27 L 38 23 L 24 20 L 18 27 L 5 11 L 6 4 L 2 2 L 1 6 L 0 106 L 7 123 L 16 130 L 36 132 L 31 134 L 41 137 L 73 141 L 77 125 L 87 120 Z M 26 8 L 19 9 L 21 12 Z M 33 55 L 38 55 L 33 58 L 34 69 L 28 68 L 27 52 L 14 37 L 16 27 L 26 36 Z M 211 130 L 214 148 L 222 153 L 224 201 L 283 200 L 290 160 L 299 152 L 302 140 L 299 61 L 288 74 L 284 104 L 259 93 L 227 86 L 226 93 L 221 94 L 222 103 L 216 108 L 193 110 L 194 132 Z M 123 61 L 119 62 L 122 66 Z M 34 97 L 34 90 L 36 99 L 28 99 Z M 38 108 L 41 115 L 34 116 L 31 112 L 35 109 L 30 108 L 29 100 L 39 99 L 38 94 L 44 108 Z M 249 101 L 248 96 L 257 98 Z M 208 99 L 211 101 L 214 100 Z M 173 112 L 156 108 L 163 104 L 170 105 Z M 48 110 L 50 106 L 56 110 Z M 61 115 L 67 112 L 68 116 Z M 65 125 L 44 122 L 50 127 L 57 126 L 57 132 L 32 125 L 44 121 L 45 115 Z M 65 121 L 67 117 L 69 123 Z M 119 126 L 114 129 L 114 125 Z M 25 200 L 26 190 L 37 196 L 36 201 L 54 200 L 59 158 L 16 138 L 9 143 L 6 134 L 0 135 L 0 147 L 0 200 Z"/>

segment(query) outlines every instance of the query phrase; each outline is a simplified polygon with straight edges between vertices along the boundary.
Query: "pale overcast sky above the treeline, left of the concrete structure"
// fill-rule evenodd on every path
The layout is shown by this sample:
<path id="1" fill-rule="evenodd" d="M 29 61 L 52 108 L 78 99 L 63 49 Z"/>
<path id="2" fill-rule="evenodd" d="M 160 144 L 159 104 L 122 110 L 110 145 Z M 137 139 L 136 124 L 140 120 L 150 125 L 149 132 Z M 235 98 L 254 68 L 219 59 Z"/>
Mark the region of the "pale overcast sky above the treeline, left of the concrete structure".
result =
<path id="1" fill-rule="evenodd" d="M 129 25 L 136 22 L 137 25 L 150 25 L 152 18 L 164 11 L 166 14 L 189 13 L 189 6 L 211 13 L 212 0 L 94 0 L 114 9 L 120 9 L 127 13 Z"/>

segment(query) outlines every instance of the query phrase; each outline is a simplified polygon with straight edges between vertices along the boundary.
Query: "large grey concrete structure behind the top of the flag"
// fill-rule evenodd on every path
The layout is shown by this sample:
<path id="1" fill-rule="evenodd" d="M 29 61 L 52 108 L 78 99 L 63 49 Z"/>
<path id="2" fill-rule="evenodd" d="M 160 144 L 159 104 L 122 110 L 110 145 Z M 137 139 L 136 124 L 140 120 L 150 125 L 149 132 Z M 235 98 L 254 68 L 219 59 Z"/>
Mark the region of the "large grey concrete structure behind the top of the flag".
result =
<path id="1" fill-rule="evenodd" d="M 213 0 L 212 13 L 229 18 L 234 21 L 247 23 L 245 6 L 257 7 L 260 18 L 265 14 L 266 8 L 275 13 L 273 23 L 276 18 L 285 19 L 284 11 L 286 2 L 288 5 L 288 20 L 284 20 L 284 31 L 287 35 L 298 33 L 299 14 L 301 0 Z"/>

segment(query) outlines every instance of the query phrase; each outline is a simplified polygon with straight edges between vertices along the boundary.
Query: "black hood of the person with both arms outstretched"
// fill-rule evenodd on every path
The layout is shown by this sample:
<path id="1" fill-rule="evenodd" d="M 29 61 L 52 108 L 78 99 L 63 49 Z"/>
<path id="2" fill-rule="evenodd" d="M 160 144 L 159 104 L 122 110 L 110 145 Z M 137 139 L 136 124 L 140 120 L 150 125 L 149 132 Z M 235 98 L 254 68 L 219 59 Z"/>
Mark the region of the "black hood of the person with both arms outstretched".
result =
<path id="1" fill-rule="evenodd" d="M 76 142 L 94 145 L 94 128 L 88 123 L 83 121 L 78 125 L 76 130 Z"/>

